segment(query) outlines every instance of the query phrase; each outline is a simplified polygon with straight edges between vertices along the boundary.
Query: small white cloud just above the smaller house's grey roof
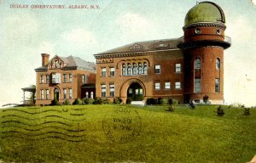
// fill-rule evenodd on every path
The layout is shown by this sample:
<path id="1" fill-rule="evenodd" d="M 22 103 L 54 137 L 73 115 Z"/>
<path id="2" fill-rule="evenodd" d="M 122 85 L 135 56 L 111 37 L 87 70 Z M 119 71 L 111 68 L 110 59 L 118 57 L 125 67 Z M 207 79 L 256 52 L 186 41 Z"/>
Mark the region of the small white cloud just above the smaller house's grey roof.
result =
<path id="1" fill-rule="evenodd" d="M 61 35 L 61 38 L 70 43 L 71 46 L 74 46 L 74 48 L 84 48 L 96 43 L 93 34 L 90 31 L 85 31 L 81 28 L 66 31 Z"/>

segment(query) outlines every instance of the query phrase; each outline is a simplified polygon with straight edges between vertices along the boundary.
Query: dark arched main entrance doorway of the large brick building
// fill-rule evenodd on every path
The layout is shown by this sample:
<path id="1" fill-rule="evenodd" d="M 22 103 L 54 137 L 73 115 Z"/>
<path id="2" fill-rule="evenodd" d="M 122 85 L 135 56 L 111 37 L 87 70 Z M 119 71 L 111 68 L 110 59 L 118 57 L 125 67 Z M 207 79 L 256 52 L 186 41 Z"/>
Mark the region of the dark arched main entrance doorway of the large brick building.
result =
<path id="1" fill-rule="evenodd" d="M 127 98 L 131 98 L 132 101 L 142 101 L 143 87 L 137 82 L 132 82 L 127 90 Z"/>

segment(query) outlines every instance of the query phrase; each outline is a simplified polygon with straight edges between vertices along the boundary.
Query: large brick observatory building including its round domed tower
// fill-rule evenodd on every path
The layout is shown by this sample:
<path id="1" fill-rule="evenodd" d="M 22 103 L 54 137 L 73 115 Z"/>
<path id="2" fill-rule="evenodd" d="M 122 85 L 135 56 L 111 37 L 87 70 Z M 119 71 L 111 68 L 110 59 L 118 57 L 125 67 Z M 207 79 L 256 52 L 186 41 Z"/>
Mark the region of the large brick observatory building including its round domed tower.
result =
<path id="1" fill-rule="evenodd" d="M 178 39 L 134 42 L 95 54 L 96 97 L 224 101 L 224 49 L 230 47 L 222 8 L 197 3 Z"/>

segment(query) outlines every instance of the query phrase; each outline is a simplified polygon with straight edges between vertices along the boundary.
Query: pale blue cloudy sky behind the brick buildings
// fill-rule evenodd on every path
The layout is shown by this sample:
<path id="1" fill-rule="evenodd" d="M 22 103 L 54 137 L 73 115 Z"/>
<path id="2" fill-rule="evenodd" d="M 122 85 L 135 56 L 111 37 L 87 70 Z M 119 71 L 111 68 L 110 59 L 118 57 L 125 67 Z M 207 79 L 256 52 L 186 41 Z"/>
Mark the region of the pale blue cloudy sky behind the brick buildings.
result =
<path id="1" fill-rule="evenodd" d="M 224 99 L 256 105 L 256 6 L 251 0 L 212 0 L 224 9 Z M 9 8 L 21 5 L 99 5 L 99 9 Z M 35 84 L 41 53 L 78 56 L 154 39 L 183 36 L 184 17 L 196 0 L 1 0 L 0 105 L 20 103 L 21 87 Z"/>

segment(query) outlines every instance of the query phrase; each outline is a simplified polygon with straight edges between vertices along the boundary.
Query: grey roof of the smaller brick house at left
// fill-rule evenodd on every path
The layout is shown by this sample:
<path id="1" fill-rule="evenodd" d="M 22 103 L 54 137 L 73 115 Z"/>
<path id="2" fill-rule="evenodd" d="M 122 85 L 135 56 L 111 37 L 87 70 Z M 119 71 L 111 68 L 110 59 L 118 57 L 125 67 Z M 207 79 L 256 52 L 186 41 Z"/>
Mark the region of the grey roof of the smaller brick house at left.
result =
<path id="1" fill-rule="evenodd" d="M 75 68 L 75 69 L 92 70 L 92 71 L 96 70 L 95 63 L 85 61 L 84 59 L 80 59 L 79 57 L 73 57 L 72 55 L 68 57 L 60 57 L 58 55 L 55 55 L 55 57 L 61 59 L 66 64 L 66 66 L 63 67 L 63 69 Z M 52 59 L 55 59 L 55 57 L 53 57 Z M 51 62 L 52 59 L 49 60 L 49 63 Z M 46 71 L 48 70 L 48 65 L 49 64 L 38 67 L 35 70 Z"/>

